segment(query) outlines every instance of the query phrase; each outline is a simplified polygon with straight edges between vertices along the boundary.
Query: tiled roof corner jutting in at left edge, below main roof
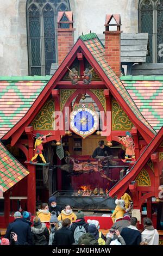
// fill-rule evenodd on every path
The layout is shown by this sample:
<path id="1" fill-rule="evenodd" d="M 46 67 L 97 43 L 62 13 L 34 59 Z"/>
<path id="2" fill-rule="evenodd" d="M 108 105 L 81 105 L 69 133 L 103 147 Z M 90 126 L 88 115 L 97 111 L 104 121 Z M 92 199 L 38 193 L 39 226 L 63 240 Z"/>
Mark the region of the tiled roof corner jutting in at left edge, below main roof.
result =
<path id="1" fill-rule="evenodd" d="M 0 187 L 9 190 L 29 174 L 28 170 L 10 154 L 0 141 Z"/>

